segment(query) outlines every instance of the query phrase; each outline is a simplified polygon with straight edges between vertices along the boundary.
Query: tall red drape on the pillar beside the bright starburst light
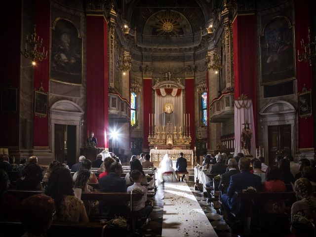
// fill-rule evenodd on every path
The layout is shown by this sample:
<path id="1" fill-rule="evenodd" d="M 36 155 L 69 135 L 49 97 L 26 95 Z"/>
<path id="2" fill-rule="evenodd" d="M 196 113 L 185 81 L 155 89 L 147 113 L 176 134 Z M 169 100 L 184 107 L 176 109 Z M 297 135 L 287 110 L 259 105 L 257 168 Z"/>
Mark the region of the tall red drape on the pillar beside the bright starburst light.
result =
<path id="1" fill-rule="evenodd" d="M 108 147 L 108 25 L 103 16 L 87 16 L 86 45 L 87 136 L 93 131 L 97 147 Z"/>

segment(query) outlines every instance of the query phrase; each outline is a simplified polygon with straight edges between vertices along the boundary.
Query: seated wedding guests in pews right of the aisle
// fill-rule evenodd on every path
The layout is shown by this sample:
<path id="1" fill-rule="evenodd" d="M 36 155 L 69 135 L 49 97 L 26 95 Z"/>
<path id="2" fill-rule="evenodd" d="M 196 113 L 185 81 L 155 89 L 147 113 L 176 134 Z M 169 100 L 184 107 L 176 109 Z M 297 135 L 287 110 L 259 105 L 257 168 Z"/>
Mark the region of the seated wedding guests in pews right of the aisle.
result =
<path id="1" fill-rule="evenodd" d="M 196 167 L 196 188 L 204 190 L 236 234 L 314 236 L 315 163 L 307 158 L 295 163 L 292 156 L 276 157 L 270 166 L 262 161 L 242 153 L 235 158 L 206 155 Z"/>

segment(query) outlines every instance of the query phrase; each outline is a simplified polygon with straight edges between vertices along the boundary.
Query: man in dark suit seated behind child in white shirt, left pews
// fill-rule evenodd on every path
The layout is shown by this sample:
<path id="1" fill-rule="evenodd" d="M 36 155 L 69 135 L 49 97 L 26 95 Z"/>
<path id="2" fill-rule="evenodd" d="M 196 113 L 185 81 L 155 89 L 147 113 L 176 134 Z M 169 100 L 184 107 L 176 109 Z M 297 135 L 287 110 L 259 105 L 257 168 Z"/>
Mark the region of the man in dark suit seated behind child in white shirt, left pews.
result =
<path id="1" fill-rule="evenodd" d="M 117 161 L 110 166 L 110 173 L 99 180 L 101 192 L 127 192 L 126 181 L 120 175 L 123 173 L 122 166 Z M 128 216 L 129 209 L 123 200 L 101 201 L 101 215 L 107 217 Z"/>

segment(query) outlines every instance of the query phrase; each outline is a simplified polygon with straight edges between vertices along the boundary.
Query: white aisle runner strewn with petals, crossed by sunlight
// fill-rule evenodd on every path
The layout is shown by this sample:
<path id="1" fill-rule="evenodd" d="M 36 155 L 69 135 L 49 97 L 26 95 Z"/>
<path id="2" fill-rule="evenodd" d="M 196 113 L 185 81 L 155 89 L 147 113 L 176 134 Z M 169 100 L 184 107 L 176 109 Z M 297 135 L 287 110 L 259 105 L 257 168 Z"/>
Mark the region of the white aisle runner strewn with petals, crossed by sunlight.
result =
<path id="1" fill-rule="evenodd" d="M 164 183 L 162 237 L 217 237 L 186 182 Z"/>

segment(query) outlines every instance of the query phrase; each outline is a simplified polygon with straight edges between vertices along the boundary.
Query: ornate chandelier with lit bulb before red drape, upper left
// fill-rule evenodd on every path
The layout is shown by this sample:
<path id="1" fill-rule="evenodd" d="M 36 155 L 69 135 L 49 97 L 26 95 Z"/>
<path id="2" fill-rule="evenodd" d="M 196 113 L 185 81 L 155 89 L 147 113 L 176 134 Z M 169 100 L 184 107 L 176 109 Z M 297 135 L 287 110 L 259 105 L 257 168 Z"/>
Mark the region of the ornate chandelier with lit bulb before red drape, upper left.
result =
<path id="1" fill-rule="evenodd" d="M 39 36 L 36 34 L 36 25 L 34 25 L 34 33 L 29 38 L 29 35 L 26 36 L 26 43 L 24 51 L 21 50 L 21 54 L 25 57 L 32 58 L 32 64 L 36 65 L 36 59 L 42 61 L 43 59 L 47 58 L 47 50 L 45 53 L 45 48 L 43 47 L 42 52 L 38 50 L 42 45 L 43 39 L 40 39 Z M 31 46 L 31 49 L 28 49 L 28 44 Z"/>

